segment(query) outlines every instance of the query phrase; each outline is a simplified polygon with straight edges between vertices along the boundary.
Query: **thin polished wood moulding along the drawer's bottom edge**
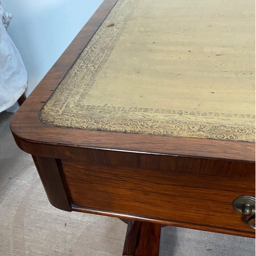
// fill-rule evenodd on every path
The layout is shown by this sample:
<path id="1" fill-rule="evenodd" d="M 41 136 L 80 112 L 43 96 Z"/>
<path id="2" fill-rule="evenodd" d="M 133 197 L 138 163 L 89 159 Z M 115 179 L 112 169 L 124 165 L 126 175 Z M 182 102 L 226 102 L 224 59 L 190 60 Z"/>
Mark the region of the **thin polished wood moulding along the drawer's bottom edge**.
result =
<path id="1" fill-rule="evenodd" d="M 159 218 L 150 218 L 147 216 L 137 216 L 133 214 L 124 214 L 122 212 L 114 212 L 114 211 L 104 211 L 100 209 L 93 209 L 93 208 L 87 208 L 87 207 L 81 207 L 76 205 L 71 205 L 72 211 L 78 211 L 78 212 L 84 212 L 87 214 L 96 214 L 96 215 L 102 215 L 102 216 L 108 216 L 108 217 L 116 217 L 116 218 L 122 218 L 122 219 L 129 219 L 129 220 L 137 220 L 137 221 L 145 221 L 145 222 L 152 222 L 152 223 L 158 223 L 162 225 L 167 226 L 175 226 L 175 227 L 183 227 L 183 228 L 191 228 L 191 229 L 197 229 L 197 230 L 203 230 L 203 231 L 209 231 L 209 232 L 217 232 L 217 233 L 223 233 L 223 234 L 230 234 L 233 236 L 242 236 L 242 237 L 248 237 L 248 238 L 255 238 L 255 231 L 253 232 L 245 232 L 241 231 L 239 229 L 227 229 L 227 228 L 221 228 L 221 227 L 215 227 L 215 226 L 209 226 L 209 225 L 202 225 L 202 224 L 194 224 L 194 223 L 187 223 L 187 222 L 180 222 L 180 221 L 171 221 L 171 220 L 164 220 Z"/>

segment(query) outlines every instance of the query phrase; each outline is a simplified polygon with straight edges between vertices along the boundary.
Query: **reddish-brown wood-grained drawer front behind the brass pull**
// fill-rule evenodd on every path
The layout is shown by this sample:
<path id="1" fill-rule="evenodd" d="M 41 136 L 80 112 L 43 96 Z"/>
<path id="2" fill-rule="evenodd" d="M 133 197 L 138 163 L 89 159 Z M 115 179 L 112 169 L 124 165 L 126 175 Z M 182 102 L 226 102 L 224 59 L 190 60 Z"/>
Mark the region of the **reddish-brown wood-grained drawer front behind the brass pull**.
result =
<path id="1" fill-rule="evenodd" d="M 232 201 L 253 196 L 254 180 L 71 161 L 62 169 L 75 206 L 253 233 Z"/>

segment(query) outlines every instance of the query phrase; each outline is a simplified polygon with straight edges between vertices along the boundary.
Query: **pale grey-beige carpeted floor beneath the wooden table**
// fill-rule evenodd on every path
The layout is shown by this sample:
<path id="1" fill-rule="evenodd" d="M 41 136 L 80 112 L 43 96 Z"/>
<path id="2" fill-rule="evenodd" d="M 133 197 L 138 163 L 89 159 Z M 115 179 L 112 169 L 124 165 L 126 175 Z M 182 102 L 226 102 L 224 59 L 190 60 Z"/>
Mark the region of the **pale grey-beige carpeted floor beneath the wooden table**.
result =
<path id="1" fill-rule="evenodd" d="M 50 205 L 30 155 L 16 146 L 11 113 L 0 113 L 0 256 L 122 255 L 126 224 Z M 255 255 L 255 240 L 164 227 L 159 256 Z"/>

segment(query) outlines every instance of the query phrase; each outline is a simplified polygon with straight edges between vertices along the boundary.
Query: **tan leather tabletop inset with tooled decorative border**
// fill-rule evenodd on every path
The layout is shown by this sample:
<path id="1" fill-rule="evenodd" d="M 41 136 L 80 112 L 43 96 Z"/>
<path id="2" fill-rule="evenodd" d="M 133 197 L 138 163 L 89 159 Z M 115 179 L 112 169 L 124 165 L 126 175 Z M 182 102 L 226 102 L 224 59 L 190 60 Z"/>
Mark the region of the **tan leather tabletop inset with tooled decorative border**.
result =
<path id="1" fill-rule="evenodd" d="M 254 5 L 118 1 L 40 120 L 86 130 L 255 141 Z"/>

